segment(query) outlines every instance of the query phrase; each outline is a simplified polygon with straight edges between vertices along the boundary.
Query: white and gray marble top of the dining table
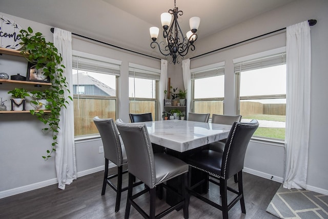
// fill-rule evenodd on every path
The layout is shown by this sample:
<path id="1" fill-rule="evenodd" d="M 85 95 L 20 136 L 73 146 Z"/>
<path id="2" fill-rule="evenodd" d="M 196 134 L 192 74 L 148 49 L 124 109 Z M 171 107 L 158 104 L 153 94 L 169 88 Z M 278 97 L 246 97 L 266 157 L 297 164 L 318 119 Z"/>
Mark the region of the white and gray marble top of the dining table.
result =
<path id="1" fill-rule="evenodd" d="M 231 125 L 187 120 L 160 120 L 145 123 L 152 143 L 179 152 L 226 139 Z"/>

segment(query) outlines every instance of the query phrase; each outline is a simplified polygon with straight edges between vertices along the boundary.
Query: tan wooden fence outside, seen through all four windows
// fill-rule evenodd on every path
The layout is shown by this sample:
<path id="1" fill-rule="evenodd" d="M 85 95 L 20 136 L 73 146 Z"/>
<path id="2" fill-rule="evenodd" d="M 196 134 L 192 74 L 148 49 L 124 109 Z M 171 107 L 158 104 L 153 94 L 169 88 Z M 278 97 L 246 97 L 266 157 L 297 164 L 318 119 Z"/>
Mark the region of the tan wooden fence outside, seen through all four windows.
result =
<path id="1" fill-rule="evenodd" d="M 223 114 L 223 101 L 196 101 L 195 113 Z M 98 129 L 93 118 L 113 118 L 116 120 L 116 100 L 74 98 L 74 132 L 75 136 L 97 134 Z M 156 118 L 156 101 L 130 100 L 130 113 L 151 112 Z M 286 104 L 262 104 L 259 102 L 240 102 L 240 115 L 286 115 Z M 158 118 L 160 120 L 160 118 Z"/>

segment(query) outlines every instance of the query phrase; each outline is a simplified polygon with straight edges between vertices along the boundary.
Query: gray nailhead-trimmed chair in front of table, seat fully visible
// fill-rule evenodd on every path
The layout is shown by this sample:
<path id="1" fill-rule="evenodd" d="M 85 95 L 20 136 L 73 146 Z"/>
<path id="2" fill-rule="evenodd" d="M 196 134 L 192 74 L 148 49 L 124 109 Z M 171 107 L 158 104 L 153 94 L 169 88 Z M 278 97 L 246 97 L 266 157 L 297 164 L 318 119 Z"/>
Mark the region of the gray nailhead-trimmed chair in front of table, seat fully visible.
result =
<path id="1" fill-rule="evenodd" d="M 118 119 L 116 120 L 116 126 L 126 147 L 129 159 L 129 189 L 125 218 L 129 218 L 131 205 L 145 218 L 160 218 L 175 209 L 183 207 L 183 216 L 188 218 L 189 194 L 186 191 L 188 186 L 188 164 L 167 154 L 154 154 L 145 124 L 124 123 Z M 162 185 L 169 188 L 163 182 L 180 175 L 182 175 L 181 201 L 155 216 L 156 186 Z M 133 177 L 146 184 L 144 190 L 134 195 L 132 195 Z M 134 201 L 134 199 L 148 191 L 150 192 L 149 215 Z"/>

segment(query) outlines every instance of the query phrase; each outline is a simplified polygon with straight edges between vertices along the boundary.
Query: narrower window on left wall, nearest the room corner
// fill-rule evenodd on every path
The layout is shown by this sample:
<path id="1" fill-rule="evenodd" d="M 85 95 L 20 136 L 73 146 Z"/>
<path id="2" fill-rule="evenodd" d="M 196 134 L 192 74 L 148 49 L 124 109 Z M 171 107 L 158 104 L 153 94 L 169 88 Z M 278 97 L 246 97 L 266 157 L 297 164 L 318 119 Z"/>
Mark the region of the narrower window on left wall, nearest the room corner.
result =
<path id="1" fill-rule="evenodd" d="M 160 70 L 129 63 L 130 113 L 152 113 L 156 120 Z"/>

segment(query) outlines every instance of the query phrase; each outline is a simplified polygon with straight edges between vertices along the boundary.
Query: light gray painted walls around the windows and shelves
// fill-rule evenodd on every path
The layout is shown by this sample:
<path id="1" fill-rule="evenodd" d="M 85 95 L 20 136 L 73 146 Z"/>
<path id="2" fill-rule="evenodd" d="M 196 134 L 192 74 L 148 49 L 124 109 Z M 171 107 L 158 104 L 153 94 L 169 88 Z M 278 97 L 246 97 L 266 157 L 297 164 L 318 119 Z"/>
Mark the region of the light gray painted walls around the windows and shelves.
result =
<path id="1" fill-rule="evenodd" d="M 328 147 L 325 141 L 325 130 L 327 128 L 324 126 L 328 122 L 328 116 L 326 115 L 328 103 L 323 98 L 328 93 L 328 86 L 326 85 L 328 75 L 325 68 L 325 62 L 328 58 L 327 11 L 328 1 L 298 0 L 209 36 L 206 39 L 197 41 L 195 44 L 196 50 L 192 54 L 194 56 L 212 51 L 244 39 L 300 23 L 307 19 L 318 20 L 317 25 L 311 28 L 312 100 L 307 184 L 309 189 L 322 193 L 328 193 L 328 176 L 325 174 L 328 168 L 326 159 Z M 44 33 L 47 39 L 52 41 L 50 27 L 11 15 L 4 15 L 17 21 L 23 28 L 31 26 L 34 30 Z M 226 61 L 225 78 L 227 85 L 225 86 L 226 101 L 224 103 L 224 112 L 232 114 L 235 110 L 232 59 L 284 45 L 285 33 L 280 33 L 248 43 L 247 45 L 192 59 L 191 68 Z M 160 61 L 117 51 L 103 45 L 95 45 L 79 38 L 73 39 L 73 49 L 122 61 L 118 114 L 119 118 L 128 121 L 129 102 L 128 89 L 126 89 L 128 84 L 128 62 L 144 64 L 159 69 Z M 169 65 L 168 71 L 172 81 L 171 84 L 183 87 L 181 65 Z M 26 70 L 24 69 L 23 72 L 25 73 Z M 0 96 L 5 94 L 3 90 L 0 90 Z M 0 114 L 0 160 L 2 163 L 0 165 L 0 198 L 55 183 L 54 159 L 52 158 L 45 162 L 41 158 L 44 151 L 48 149 L 50 140 L 40 134 L 40 128 L 42 128 L 42 125 L 31 115 Z M 99 139 L 76 141 L 78 176 L 101 170 L 104 158 L 103 154 L 98 153 L 99 146 L 101 146 Z M 283 177 L 283 162 L 284 148 L 281 145 L 252 141 L 245 158 L 245 171 L 265 178 L 274 176 L 273 180 L 281 181 Z"/>

